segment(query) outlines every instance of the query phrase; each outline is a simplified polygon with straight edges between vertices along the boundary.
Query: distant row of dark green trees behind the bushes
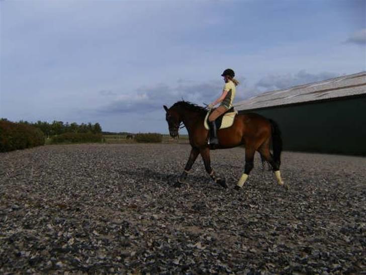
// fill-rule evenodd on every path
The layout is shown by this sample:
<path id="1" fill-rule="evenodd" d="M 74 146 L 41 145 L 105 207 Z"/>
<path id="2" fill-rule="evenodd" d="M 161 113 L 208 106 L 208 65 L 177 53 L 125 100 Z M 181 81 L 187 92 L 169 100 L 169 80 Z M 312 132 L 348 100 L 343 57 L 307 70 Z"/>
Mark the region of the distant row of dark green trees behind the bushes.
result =
<path id="1" fill-rule="evenodd" d="M 2 121 L 8 121 L 7 119 L 0 119 Z M 46 137 L 51 137 L 55 135 L 61 135 L 64 133 L 93 133 L 93 134 L 101 134 L 102 127 L 97 122 L 95 124 L 89 123 L 81 123 L 77 124 L 76 122 L 72 123 L 64 123 L 62 121 L 53 121 L 52 123 L 48 123 L 46 121 L 37 121 L 37 122 L 28 122 L 28 121 L 19 121 L 19 124 L 30 125 L 40 129 Z"/>

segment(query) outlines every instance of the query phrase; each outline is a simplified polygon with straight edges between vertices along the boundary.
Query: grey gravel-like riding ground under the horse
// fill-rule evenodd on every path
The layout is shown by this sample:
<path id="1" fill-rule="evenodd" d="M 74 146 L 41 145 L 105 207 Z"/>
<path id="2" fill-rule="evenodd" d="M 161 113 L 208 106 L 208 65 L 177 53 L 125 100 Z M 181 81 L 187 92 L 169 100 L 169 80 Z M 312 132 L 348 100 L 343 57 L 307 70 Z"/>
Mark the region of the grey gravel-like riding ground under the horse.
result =
<path id="1" fill-rule="evenodd" d="M 366 273 L 366 158 L 283 152 L 277 184 L 244 149 L 174 188 L 187 144 L 47 145 L 0 154 L 0 273 Z"/>

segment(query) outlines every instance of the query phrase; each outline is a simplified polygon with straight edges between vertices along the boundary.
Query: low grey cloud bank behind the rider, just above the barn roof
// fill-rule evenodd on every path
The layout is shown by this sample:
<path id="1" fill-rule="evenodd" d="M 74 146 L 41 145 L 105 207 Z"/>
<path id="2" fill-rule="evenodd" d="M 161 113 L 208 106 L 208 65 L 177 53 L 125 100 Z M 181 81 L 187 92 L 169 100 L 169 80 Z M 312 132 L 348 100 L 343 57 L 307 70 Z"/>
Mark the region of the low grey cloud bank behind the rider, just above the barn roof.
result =
<path id="1" fill-rule="evenodd" d="M 241 78 L 235 102 L 259 95 L 264 91 L 284 89 L 337 76 L 339 74 L 332 72 L 312 74 L 300 70 L 295 74 L 268 74 L 252 86 L 247 85 L 245 79 Z M 124 94 L 107 90 L 101 94 L 114 98 L 107 105 L 101 107 L 98 112 L 114 115 L 136 112 L 147 114 L 162 109 L 162 105 L 171 106 L 179 100 L 203 106 L 204 103 L 209 104 L 218 98 L 222 87 L 223 82 L 217 80 L 195 83 L 194 81 L 178 79 L 176 85 L 160 83 L 153 86 L 142 86 Z"/>

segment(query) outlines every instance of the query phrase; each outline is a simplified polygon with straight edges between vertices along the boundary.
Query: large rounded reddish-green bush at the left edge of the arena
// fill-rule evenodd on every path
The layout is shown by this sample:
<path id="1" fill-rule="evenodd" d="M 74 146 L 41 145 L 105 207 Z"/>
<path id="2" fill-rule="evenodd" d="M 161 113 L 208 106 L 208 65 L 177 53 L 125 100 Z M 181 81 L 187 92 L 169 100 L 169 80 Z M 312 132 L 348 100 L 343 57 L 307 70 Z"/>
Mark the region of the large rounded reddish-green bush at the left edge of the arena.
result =
<path id="1" fill-rule="evenodd" d="M 44 143 L 45 136 L 40 129 L 6 120 L 0 121 L 0 152 L 31 148 Z"/>

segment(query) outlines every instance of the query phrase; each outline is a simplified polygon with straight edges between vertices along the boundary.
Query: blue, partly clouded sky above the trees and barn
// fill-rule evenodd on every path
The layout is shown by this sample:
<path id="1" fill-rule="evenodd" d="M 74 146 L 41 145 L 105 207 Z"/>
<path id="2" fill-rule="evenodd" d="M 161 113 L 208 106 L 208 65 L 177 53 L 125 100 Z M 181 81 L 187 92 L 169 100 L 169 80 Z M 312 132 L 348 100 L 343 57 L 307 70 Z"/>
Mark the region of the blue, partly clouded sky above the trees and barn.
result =
<path id="1" fill-rule="evenodd" d="M 0 118 L 168 133 L 163 105 L 366 70 L 366 1 L 0 0 Z"/>

